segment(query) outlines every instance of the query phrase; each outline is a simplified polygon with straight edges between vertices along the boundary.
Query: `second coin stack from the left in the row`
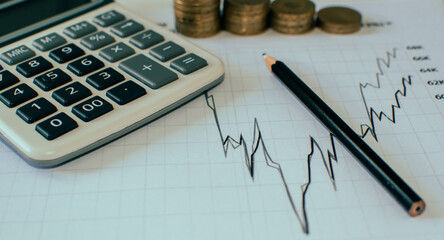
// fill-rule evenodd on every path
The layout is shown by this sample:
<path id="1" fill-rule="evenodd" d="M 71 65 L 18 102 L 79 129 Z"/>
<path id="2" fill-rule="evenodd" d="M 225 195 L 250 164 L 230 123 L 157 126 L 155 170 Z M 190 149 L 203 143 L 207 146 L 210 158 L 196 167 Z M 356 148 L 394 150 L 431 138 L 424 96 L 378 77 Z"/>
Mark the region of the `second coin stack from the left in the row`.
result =
<path id="1" fill-rule="evenodd" d="M 239 35 L 265 31 L 270 0 L 225 0 L 224 27 Z"/>

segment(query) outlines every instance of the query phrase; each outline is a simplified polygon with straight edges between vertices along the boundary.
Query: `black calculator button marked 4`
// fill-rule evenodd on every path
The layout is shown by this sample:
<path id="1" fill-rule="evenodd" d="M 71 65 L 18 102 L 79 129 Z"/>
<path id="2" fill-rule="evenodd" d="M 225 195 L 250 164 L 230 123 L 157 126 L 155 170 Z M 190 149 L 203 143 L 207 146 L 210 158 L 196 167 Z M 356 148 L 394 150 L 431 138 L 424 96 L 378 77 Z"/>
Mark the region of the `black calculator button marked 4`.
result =
<path id="1" fill-rule="evenodd" d="M 28 85 L 22 83 L 0 94 L 0 100 L 9 108 L 22 104 L 38 94 Z"/>

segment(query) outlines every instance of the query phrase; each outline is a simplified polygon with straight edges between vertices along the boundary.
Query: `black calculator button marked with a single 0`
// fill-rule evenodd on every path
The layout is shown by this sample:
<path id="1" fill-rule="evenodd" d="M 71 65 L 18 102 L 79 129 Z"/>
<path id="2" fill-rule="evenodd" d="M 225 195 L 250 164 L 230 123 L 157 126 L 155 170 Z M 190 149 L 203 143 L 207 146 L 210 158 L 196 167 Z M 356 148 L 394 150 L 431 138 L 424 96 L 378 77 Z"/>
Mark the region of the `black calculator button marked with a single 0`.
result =
<path id="1" fill-rule="evenodd" d="M 59 113 L 35 126 L 35 130 L 48 140 L 53 140 L 79 125 L 65 113 Z"/>

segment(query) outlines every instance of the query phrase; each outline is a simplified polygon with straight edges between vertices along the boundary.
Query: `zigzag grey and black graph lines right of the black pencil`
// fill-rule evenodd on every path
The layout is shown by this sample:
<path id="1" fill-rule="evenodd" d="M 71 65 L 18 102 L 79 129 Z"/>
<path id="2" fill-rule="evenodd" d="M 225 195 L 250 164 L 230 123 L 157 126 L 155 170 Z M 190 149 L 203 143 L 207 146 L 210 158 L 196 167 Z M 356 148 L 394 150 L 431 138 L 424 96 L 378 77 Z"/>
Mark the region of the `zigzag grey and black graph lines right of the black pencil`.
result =
<path id="1" fill-rule="evenodd" d="M 382 118 L 385 117 L 387 120 L 392 122 L 393 124 L 396 123 L 396 109 L 401 108 L 401 104 L 399 103 L 399 96 L 405 97 L 407 95 L 407 84 L 412 85 L 412 76 L 408 75 L 407 78 L 402 78 L 401 84 L 402 89 L 398 89 L 395 92 L 395 104 L 391 105 L 391 113 L 390 115 L 387 115 L 383 111 L 377 111 L 373 107 L 369 107 L 367 104 L 367 100 L 365 98 L 364 89 L 367 87 L 372 87 L 375 89 L 381 89 L 381 77 L 384 76 L 385 71 L 383 69 L 383 66 L 385 66 L 387 69 L 390 69 L 392 60 L 396 58 L 396 48 L 393 48 L 391 52 L 386 52 L 386 58 L 376 58 L 376 65 L 378 67 L 378 72 L 376 72 L 376 85 L 373 85 L 371 83 L 360 83 L 359 84 L 359 90 L 361 93 L 361 98 L 365 106 L 365 110 L 367 112 L 367 117 L 369 120 L 369 124 L 364 123 L 361 124 L 361 137 L 365 138 L 368 133 L 370 133 L 373 138 L 378 141 L 378 136 L 376 134 L 376 126 L 375 126 L 375 120 L 382 121 Z"/>

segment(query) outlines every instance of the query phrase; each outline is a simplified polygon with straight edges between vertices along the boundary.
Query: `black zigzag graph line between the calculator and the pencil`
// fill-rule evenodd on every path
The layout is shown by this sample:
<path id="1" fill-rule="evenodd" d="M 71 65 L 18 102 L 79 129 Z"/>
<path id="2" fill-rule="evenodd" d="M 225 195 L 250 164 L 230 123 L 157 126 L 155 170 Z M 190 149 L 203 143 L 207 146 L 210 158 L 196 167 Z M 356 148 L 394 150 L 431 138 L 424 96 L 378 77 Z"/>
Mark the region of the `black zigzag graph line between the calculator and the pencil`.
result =
<path id="1" fill-rule="evenodd" d="M 281 165 L 279 163 L 275 162 L 271 158 L 271 156 L 267 150 L 267 147 L 266 147 L 264 139 L 262 137 L 262 132 L 260 130 L 259 123 L 258 123 L 257 119 L 256 118 L 254 119 L 253 141 L 252 141 L 252 145 L 251 145 L 251 150 L 249 151 L 249 149 L 247 147 L 247 142 L 245 141 L 245 138 L 243 137 L 242 134 L 240 134 L 238 139 L 235 139 L 235 138 L 231 137 L 230 135 L 224 135 L 222 133 L 222 128 L 221 128 L 221 125 L 219 122 L 219 117 L 217 114 L 217 109 L 216 109 L 214 97 L 213 97 L 213 95 L 208 95 L 208 92 L 206 92 L 205 99 L 206 99 L 207 106 L 213 112 L 214 120 L 216 122 L 216 126 L 219 131 L 219 136 L 220 136 L 220 140 L 222 143 L 225 157 L 227 157 L 227 153 L 228 153 L 228 150 L 230 147 L 233 149 L 242 148 L 243 153 L 244 153 L 244 157 L 245 157 L 245 159 L 244 159 L 245 166 L 248 169 L 251 180 L 254 181 L 254 169 L 255 169 L 255 166 L 254 166 L 255 160 L 254 159 L 255 159 L 256 153 L 261 148 L 262 152 L 264 154 L 264 157 L 265 157 L 266 165 L 268 167 L 275 169 L 277 171 L 279 177 L 282 180 L 282 185 L 285 189 L 286 197 L 288 198 L 291 209 L 292 209 L 294 215 L 296 216 L 296 218 L 302 228 L 302 231 L 305 234 L 309 234 L 309 224 L 308 224 L 305 198 L 306 198 L 307 191 L 309 190 L 309 187 L 311 184 L 311 161 L 312 161 L 312 157 L 315 154 L 316 150 L 318 150 L 319 153 L 321 154 L 321 158 L 322 158 L 325 170 L 327 171 L 327 174 L 328 174 L 328 177 L 332 183 L 333 189 L 336 191 L 336 183 L 335 183 L 334 170 L 333 170 L 333 166 L 332 166 L 332 160 L 334 160 L 335 162 L 338 162 L 338 160 L 337 160 L 337 155 L 336 155 L 336 148 L 335 148 L 335 144 L 334 144 L 333 134 L 330 134 L 332 151 L 327 150 L 328 161 L 326 160 L 326 157 L 324 156 L 324 152 L 322 151 L 322 149 L 321 149 L 320 145 L 318 144 L 318 142 L 316 141 L 316 139 L 314 139 L 312 136 L 310 136 L 311 151 L 307 155 L 307 175 L 308 176 L 307 176 L 307 182 L 301 185 L 301 191 L 302 191 L 301 210 L 299 212 L 296 207 L 296 203 L 293 199 L 290 187 L 287 184 L 287 181 L 285 179 L 285 175 L 284 175 Z"/>

